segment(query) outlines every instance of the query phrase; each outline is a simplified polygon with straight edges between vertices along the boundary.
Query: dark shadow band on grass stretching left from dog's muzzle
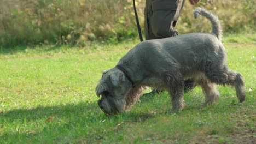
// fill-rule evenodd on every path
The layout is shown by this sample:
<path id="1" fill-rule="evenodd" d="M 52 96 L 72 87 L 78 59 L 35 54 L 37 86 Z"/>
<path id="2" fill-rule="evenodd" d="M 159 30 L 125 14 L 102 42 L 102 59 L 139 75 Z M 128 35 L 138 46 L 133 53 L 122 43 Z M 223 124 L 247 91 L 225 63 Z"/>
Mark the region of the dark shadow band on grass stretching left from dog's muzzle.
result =
<path id="1" fill-rule="evenodd" d="M 72 116 L 81 117 L 84 121 L 93 121 L 100 118 L 114 118 L 114 117 L 125 117 L 127 120 L 133 122 L 145 121 L 147 118 L 154 117 L 153 115 L 147 115 L 146 113 L 122 113 L 119 115 L 106 115 L 98 107 L 97 103 L 78 103 L 78 104 L 66 104 L 57 106 L 38 106 L 34 109 L 16 109 L 7 112 L 1 112 L 0 117 L 10 122 L 21 122 L 21 121 L 36 121 L 38 119 L 59 117 L 59 118 L 71 118 Z M 89 117 L 91 116 L 91 117 Z M 129 119 L 131 117 L 131 119 Z M 45 119 L 45 122 L 50 121 Z"/>

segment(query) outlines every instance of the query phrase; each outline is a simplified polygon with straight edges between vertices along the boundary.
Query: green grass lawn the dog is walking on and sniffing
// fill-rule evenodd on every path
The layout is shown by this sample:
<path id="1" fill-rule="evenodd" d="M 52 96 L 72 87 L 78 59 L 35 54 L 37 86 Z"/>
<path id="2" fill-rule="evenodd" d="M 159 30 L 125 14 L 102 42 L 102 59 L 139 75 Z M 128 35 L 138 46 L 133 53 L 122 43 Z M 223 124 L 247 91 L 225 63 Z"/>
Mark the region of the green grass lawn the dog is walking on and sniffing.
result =
<path id="1" fill-rule="evenodd" d="M 231 69 L 246 82 L 246 101 L 218 86 L 217 103 L 199 109 L 201 88 L 174 115 L 166 92 L 142 97 L 131 111 L 107 116 L 94 92 L 138 41 L 77 47 L 0 49 L 0 143 L 253 143 L 256 141 L 256 35 L 224 38 Z M 148 90 L 149 91 L 149 90 Z M 237 105 L 234 105 L 237 104 Z"/>

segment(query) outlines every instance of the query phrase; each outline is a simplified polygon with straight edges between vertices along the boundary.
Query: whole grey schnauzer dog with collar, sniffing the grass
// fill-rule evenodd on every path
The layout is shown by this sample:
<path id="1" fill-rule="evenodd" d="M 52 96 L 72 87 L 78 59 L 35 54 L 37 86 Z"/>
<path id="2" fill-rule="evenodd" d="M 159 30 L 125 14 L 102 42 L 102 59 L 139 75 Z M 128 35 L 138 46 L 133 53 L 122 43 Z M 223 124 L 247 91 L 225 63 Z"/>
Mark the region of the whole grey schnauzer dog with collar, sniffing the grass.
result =
<path id="1" fill-rule="evenodd" d="M 184 79 L 189 78 L 202 87 L 205 102 L 201 106 L 219 98 L 217 84 L 234 86 L 239 101 L 245 101 L 242 75 L 228 68 L 218 17 L 201 8 L 193 13 L 195 18 L 202 15 L 210 20 L 212 32 L 147 40 L 133 47 L 116 67 L 102 74 L 96 87 L 102 111 L 113 115 L 129 110 L 149 86 L 167 90 L 171 113 L 179 112 L 184 108 Z"/>

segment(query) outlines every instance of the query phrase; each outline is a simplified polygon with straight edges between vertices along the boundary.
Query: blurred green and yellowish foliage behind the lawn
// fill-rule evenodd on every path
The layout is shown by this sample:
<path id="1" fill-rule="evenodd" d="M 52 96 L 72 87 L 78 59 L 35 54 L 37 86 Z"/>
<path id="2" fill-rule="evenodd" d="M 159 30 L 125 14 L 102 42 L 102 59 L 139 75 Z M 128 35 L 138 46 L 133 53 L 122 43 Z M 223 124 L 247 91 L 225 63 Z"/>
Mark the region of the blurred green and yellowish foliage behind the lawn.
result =
<path id="1" fill-rule="evenodd" d="M 137 0 L 143 27 L 144 3 Z M 219 16 L 224 34 L 255 32 L 255 1 L 206 0 L 185 2 L 176 26 L 179 33 L 207 32 L 207 19 L 194 20 L 192 10 L 207 8 Z M 137 37 L 131 0 L 2 0 L 0 1 L 0 46 L 74 44 L 88 41 L 117 42 Z"/>

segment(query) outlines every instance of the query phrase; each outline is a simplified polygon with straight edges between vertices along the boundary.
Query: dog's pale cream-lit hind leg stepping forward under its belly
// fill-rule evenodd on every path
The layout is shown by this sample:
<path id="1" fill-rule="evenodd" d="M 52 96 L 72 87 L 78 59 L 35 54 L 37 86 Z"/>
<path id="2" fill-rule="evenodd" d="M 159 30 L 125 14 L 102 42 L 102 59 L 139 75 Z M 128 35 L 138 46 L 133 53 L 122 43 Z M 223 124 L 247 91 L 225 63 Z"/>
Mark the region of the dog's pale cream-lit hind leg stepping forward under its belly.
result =
<path id="1" fill-rule="evenodd" d="M 211 83 L 207 79 L 197 80 L 196 83 L 202 87 L 202 91 L 205 94 L 205 102 L 202 103 L 200 107 L 211 104 L 219 99 L 219 92 L 216 88 L 216 84 Z"/>

